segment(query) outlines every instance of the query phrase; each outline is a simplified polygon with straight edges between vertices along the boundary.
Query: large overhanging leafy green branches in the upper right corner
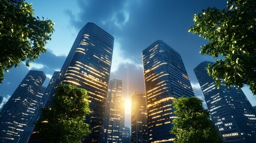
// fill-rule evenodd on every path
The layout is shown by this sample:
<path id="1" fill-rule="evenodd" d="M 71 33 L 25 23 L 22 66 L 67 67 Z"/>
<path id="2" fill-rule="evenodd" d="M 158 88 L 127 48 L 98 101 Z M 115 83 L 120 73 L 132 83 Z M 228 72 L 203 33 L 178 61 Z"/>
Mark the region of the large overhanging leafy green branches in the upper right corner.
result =
<path id="1" fill-rule="evenodd" d="M 228 87 L 247 84 L 256 94 L 255 7 L 254 0 L 228 0 L 224 10 L 207 8 L 194 15 L 194 26 L 188 32 L 209 41 L 200 53 L 223 58 L 207 67 L 218 87 L 224 79 Z"/>

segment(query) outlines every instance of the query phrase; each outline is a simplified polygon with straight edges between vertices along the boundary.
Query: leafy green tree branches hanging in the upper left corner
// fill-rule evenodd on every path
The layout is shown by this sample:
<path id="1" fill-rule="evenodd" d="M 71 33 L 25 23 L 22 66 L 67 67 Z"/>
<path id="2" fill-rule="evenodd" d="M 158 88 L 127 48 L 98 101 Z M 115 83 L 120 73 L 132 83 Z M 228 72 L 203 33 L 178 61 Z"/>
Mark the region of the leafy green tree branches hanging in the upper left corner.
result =
<path id="1" fill-rule="evenodd" d="M 46 52 L 45 44 L 53 33 L 51 20 L 33 16 L 32 4 L 22 0 L 0 1 L 0 83 L 4 71 L 29 62 Z"/>

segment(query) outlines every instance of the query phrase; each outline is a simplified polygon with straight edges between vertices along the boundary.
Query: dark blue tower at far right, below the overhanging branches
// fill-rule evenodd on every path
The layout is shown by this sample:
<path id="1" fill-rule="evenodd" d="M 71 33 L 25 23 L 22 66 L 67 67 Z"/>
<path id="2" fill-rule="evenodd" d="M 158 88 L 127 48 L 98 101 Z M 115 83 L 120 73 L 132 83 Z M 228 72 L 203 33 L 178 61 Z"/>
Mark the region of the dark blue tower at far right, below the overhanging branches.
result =
<path id="1" fill-rule="evenodd" d="M 237 86 L 228 89 L 221 83 L 219 89 L 205 69 L 209 61 L 204 61 L 194 69 L 197 80 L 205 96 L 215 128 L 224 142 L 256 142 L 256 117 L 252 105 Z M 224 82 L 224 80 L 223 80 Z"/>

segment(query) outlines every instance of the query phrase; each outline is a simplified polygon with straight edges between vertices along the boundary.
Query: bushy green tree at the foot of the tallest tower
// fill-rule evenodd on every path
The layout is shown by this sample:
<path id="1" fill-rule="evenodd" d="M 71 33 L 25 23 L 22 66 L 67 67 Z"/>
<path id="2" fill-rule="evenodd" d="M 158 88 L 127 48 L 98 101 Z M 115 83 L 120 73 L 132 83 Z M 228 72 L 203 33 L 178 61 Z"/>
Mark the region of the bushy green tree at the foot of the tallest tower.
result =
<path id="1" fill-rule="evenodd" d="M 89 125 L 84 123 L 90 113 L 87 91 L 72 85 L 59 85 L 53 104 L 42 108 L 44 120 L 37 122 L 35 130 L 43 141 L 81 142 L 89 135 Z"/>

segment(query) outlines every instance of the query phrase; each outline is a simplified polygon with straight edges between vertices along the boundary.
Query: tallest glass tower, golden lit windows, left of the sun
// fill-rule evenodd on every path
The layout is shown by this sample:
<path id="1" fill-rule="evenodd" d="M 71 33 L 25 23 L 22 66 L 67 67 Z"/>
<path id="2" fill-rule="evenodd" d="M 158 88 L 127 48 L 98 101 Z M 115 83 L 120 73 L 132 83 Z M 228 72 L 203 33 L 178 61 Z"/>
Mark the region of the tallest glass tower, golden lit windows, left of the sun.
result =
<path id="1" fill-rule="evenodd" d="M 86 116 L 86 123 L 91 133 L 82 142 L 100 142 L 102 138 L 113 46 L 113 36 L 94 23 L 87 23 L 78 33 L 56 82 L 87 90 L 92 113 Z"/>

